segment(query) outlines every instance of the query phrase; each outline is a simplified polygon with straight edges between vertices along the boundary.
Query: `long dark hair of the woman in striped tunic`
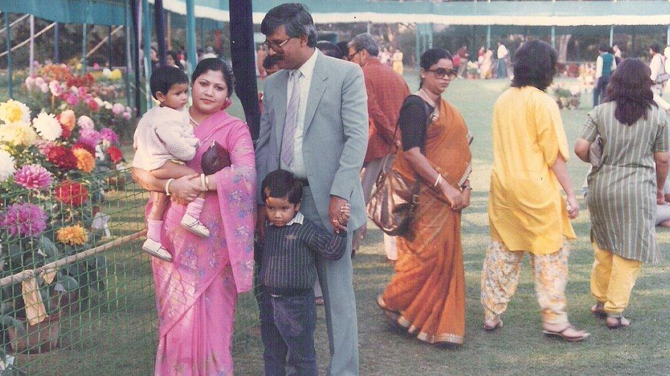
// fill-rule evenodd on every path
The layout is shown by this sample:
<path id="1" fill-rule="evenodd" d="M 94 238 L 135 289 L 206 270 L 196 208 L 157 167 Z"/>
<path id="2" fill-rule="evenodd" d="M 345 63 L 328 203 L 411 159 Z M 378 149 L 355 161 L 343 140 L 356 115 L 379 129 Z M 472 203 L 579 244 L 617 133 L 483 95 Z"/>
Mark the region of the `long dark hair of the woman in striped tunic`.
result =
<path id="1" fill-rule="evenodd" d="M 614 117 L 622 124 L 632 125 L 639 118 L 647 118 L 647 110 L 656 106 L 651 92 L 651 70 L 642 60 L 626 59 L 610 79 L 605 101 L 616 102 Z"/>

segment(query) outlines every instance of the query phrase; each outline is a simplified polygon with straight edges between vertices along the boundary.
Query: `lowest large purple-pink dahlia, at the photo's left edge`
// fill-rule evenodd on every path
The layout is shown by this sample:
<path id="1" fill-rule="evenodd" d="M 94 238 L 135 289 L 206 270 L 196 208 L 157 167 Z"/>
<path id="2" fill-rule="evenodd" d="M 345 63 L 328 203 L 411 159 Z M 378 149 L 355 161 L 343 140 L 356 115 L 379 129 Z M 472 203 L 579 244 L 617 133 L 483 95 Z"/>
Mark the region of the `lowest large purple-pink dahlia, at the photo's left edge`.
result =
<path id="1" fill-rule="evenodd" d="M 0 214 L 0 227 L 12 236 L 38 236 L 47 228 L 47 214 L 32 203 L 15 203 Z"/>

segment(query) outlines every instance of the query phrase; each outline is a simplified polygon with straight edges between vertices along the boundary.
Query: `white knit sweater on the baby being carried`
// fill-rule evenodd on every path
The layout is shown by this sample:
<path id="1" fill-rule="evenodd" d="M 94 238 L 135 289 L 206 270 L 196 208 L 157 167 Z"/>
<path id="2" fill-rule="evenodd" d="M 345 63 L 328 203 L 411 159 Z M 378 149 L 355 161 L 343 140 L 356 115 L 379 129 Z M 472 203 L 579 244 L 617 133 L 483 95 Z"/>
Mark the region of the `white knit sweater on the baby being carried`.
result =
<path id="1" fill-rule="evenodd" d="M 197 145 L 187 111 L 154 107 L 137 123 L 132 166 L 152 171 L 170 160 L 189 161 L 196 155 Z"/>

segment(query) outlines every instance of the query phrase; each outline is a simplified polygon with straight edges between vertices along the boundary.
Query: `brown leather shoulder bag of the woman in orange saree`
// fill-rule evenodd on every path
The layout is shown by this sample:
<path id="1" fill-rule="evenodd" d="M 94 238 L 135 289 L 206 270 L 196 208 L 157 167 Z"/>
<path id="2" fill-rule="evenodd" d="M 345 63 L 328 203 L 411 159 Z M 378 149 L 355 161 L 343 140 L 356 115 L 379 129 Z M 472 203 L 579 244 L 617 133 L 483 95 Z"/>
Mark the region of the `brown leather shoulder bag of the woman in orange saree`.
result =
<path id="1" fill-rule="evenodd" d="M 430 123 L 431 111 L 427 103 L 424 102 L 424 105 L 426 125 L 422 136 L 421 154 L 425 155 L 426 128 Z M 397 132 L 397 125 L 395 131 Z M 419 188 L 421 188 L 421 177 L 418 174 L 412 184 L 393 168 L 386 171 L 384 164 L 366 205 L 368 216 L 386 234 L 412 238 L 411 225 L 419 206 Z"/>

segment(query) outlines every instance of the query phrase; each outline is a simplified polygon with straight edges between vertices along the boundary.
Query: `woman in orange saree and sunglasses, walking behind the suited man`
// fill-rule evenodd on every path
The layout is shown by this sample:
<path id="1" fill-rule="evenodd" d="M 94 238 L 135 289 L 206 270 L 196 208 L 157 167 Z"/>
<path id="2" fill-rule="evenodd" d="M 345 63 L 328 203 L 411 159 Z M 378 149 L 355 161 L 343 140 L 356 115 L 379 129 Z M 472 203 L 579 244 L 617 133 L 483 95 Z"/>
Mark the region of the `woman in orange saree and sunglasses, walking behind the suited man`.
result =
<path id="1" fill-rule="evenodd" d="M 397 238 L 395 275 L 378 297 L 393 323 L 435 344 L 461 344 L 465 335 L 461 209 L 470 204 L 471 136 L 459 111 L 440 97 L 456 74 L 448 51 L 429 49 L 421 56 L 421 89 L 400 111 L 403 151 L 393 169 L 423 183 L 413 234 Z"/>

